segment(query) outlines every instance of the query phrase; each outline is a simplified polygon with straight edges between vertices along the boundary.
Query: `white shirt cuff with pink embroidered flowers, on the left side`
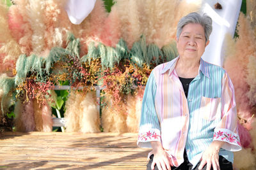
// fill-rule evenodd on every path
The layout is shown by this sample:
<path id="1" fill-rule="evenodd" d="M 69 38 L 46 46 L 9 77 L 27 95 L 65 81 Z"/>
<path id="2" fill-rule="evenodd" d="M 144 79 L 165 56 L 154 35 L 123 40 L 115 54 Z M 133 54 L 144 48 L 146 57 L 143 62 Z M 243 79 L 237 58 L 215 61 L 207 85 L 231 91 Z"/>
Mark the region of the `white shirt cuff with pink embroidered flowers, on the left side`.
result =
<path id="1" fill-rule="evenodd" d="M 151 141 L 161 141 L 159 129 L 148 129 L 148 131 L 139 132 L 137 145 L 143 148 L 151 148 Z"/>

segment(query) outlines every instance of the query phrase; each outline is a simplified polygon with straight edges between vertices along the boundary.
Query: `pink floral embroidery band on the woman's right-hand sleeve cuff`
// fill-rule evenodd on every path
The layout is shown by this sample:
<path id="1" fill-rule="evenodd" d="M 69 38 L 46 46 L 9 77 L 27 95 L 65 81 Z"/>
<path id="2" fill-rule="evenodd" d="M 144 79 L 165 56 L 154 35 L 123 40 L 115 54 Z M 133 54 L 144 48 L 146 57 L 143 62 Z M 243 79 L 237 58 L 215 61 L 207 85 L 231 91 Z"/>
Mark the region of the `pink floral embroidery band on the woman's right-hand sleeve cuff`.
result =
<path id="1" fill-rule="evenodd" d="M 228 132 L 221 132 L 221 131 L 214 132 L 213 139 L 219 139 L 221 141 L 226 141 L 228 143 L 234 143 L 234 144 L 241 146 L 238 136 L 233 135 Z"/>

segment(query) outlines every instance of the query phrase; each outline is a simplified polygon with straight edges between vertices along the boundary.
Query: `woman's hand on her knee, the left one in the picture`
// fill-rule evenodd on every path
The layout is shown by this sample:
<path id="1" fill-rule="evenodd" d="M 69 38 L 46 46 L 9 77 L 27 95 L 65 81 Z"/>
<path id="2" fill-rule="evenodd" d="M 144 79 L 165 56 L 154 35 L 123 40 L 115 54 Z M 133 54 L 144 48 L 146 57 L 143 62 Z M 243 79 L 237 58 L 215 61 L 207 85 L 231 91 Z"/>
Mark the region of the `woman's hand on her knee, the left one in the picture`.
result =
<path id="1" fill-rule="evenodd" d="M 159 141 L 152 141 L 151 146 L 153 148 L 154 159 L 151 164 L 151 169 L 154 169 L 155 165 L 159 170 L 171 169 L 172 160 L 168 157 L 168 154 L 164 151 L 163 146 Z"/>

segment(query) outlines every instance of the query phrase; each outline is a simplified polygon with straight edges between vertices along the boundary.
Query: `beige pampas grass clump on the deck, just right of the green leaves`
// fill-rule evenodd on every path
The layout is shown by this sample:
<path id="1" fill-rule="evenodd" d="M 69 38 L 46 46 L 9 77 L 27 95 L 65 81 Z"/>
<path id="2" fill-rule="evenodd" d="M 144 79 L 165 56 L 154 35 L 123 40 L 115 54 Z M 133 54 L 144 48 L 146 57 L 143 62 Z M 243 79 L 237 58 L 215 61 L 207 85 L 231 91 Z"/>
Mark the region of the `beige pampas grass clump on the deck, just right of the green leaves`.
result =
<path id="1" fill-rule="evenodd" d="M 95 92 L 71 92 L 66 102 L 67 132 L 100 132 Z"/>

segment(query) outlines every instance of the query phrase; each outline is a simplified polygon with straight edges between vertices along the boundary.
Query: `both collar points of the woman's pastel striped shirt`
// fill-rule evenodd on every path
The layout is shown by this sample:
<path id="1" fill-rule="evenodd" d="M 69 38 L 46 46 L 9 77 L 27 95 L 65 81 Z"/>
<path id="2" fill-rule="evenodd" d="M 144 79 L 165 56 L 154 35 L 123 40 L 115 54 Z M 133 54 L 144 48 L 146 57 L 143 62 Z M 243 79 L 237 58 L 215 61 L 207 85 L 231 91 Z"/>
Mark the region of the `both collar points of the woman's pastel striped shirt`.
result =
<path id="1" fill-rule="evenodd" d="M 179 60 L 179 56 L 171 60 L 170 62 L 168 62 L 164 67 L 163 71 L 161 71 L 161 74 L 164 74 L 166 73 L 166 71 L 169 70 L 169 76 L 170 76 L 173 73 L 173 70 L 175 69 L 175 66 L 178 60 Z M 210 78 L 209 63 L 205 62 L 205 60 L 203 60 L 202 58 L 200 59 L 199 71 L 201 71 L 204 74 L 204 76 L 206 76 L 207 78 Z"/>

